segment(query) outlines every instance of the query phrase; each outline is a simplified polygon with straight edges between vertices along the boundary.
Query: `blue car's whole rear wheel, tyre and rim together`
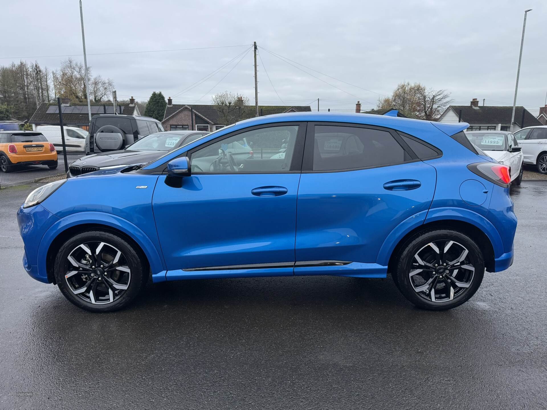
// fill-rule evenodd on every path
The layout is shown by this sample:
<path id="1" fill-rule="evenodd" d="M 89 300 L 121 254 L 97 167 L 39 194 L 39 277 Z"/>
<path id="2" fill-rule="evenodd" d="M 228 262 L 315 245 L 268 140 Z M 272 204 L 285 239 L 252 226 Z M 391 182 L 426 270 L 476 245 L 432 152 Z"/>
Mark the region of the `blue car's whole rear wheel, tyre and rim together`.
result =
<path id="1" fill-rule="evenodd" d="M 461 232 L 428 230 L 403 244 L 392 276 L 401 293 L 417 307 L 451 309 L 479 289 L 484 257 L 473 239 Z"/>

